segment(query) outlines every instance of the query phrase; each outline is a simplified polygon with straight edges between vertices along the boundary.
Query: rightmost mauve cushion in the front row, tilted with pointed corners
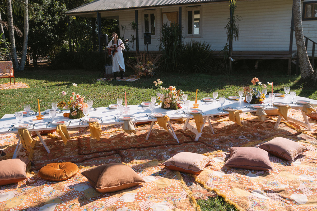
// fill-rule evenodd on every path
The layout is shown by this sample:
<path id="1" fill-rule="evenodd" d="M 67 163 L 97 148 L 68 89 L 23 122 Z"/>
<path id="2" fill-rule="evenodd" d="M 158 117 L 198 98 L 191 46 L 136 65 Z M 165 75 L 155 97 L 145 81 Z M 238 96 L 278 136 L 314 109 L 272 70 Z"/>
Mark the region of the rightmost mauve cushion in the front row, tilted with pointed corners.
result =
<path id="1" fill-rule="evenodd" d="M 299 154 L 307 151 L 305 146 L 283 137 L 276 137 L 258 147 L 278 158 L 292 162 Z"/>

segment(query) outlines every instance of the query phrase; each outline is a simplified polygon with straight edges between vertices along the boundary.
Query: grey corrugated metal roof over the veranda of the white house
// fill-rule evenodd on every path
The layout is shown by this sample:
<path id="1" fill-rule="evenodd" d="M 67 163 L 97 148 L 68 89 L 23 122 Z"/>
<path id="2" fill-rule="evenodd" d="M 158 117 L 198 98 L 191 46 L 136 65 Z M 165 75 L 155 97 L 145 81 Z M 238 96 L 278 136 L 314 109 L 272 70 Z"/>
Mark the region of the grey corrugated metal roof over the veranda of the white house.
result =
<path id="1" fill-rule="evenodd" d="M 136 9 L 147 7 L 158 7 L 168 5 L 181 5 L 193 3 L 219 2 L 225 0 L 95 0 L 68 10 L 66 14 L 87 13 L 97 11 L 110 11 L 121 9 Z"/>

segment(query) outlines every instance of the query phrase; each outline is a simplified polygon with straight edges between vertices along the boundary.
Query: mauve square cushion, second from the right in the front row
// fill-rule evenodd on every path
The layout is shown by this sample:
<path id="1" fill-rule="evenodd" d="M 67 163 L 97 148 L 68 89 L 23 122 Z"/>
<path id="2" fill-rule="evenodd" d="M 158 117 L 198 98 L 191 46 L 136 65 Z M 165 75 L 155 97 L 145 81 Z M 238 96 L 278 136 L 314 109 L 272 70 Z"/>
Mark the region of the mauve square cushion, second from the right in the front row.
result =
<path id="1" fill-rule="evenodd" d="M 268 152 L 255 147 L 230 147 L 230 158 L 224 164 L 228 167 L 268 170 L 272 169 Z"/>

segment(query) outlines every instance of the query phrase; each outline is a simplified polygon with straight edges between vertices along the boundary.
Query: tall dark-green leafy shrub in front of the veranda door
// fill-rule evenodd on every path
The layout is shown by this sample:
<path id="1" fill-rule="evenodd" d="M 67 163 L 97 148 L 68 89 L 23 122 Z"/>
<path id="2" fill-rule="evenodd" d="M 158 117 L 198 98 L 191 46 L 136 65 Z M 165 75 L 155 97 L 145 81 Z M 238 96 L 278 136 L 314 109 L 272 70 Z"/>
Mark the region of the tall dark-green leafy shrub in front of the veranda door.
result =
<path id="1" fill-rule="evenodd" d="M 163 70 L 175 70 L 178 67 L 178 53 L 181 47 L 181 36 L 182 30 L 179 28 L 177 23 L 167 24 L 164 23 L 161 30 L 161 38 L 159 44 L 159 50 L 162 53 L 162 64 Z"/>

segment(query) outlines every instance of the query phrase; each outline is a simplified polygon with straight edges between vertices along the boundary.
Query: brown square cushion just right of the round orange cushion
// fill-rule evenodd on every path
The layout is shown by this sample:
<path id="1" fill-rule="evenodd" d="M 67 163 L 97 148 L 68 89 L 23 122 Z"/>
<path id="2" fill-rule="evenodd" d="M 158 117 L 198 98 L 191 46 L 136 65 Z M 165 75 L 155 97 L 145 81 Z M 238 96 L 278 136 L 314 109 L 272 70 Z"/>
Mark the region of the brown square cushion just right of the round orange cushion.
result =
<path id="1" fill-rule="evenodd" d="M 99 165 L 81 174 L 100 193 L 114 192 L 145 183 L 132 168 L 122 163 Z"/>

